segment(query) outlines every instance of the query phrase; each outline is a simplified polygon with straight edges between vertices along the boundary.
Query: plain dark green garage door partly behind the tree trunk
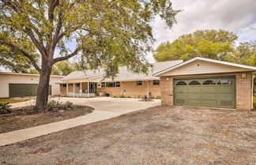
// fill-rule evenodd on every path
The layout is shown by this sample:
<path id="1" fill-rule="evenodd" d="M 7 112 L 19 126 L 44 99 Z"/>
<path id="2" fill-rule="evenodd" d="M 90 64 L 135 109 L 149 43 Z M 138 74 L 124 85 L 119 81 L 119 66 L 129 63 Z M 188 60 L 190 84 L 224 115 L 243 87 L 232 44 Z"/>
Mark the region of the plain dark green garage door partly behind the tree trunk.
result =
<path id="1" fill-rule="evenodd" d="M 38 84 L 9 84 L 9 97 L 36 96 Z M 51 95 L 51 85 L 49 86 Z"/>

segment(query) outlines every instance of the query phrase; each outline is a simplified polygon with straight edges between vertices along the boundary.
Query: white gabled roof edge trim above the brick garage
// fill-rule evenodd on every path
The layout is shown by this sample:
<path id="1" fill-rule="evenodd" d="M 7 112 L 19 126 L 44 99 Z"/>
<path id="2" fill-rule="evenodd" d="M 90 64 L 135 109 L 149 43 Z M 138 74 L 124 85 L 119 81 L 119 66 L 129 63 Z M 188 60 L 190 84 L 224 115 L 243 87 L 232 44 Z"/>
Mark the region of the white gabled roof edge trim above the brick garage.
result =
<path id="1" fill-rule="evenodd" d="M 239 67 L 239 68 L 243 68 L 243 69 L 250 69 L 251 71 L 256 70 L 255 66 L 246 66 L 246 65 L 236 64 L 236 63 L 232 63 L 232 62 L 223 62 L 223 61 L 220 61 L 220 60 L 215 60 L 215 59 L 210 59 L 210 58 L 197 57 L 197 58 L 192 58 L 192 59 L 190 59 L 186 62 L 180 63 L 176 66 L 171 66 L 171 67 L 168 67 L 167 69 L 163 69 L 160 72 L 154 73 L 153 76 L 156 76 L 156 77 L 160 76 L 160 74 L 162 74 L 162 73 L 166 73 L 166 72 L 168 72 L 172 69 L 176 69 L 176 68 L 179 68 L 181 66 L 185 66 L 186 64 L 188 64 L 190 62 L 194 62 L 196 60 L 201 60 L 201 61 L 205 61 L 205 62 L 214 62 L 214 63 L 218 63 L 218 64 L 223 64 L 223 65 L 226 65 L 226 66 L 235 66 L 235 67 Z"/>

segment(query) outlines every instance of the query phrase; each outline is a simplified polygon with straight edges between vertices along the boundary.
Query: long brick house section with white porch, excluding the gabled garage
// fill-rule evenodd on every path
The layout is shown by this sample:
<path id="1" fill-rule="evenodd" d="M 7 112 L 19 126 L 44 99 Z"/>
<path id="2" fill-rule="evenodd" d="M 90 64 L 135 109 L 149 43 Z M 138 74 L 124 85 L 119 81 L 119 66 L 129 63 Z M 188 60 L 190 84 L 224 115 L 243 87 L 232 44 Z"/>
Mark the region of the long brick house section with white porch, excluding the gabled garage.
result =
<path id="1" fill-rule="evenodd" d="M 176 66 L 182 60 L 156 62 L 149 68 L 149 73 L 132 73 L 126 66 L 119 67 L 119 73 L 112 81 L 106 77 L 103 69 L 75 71 L 62 79 L 61 94 L 67 96 L 160 96 L 160 77 L 153 73 Z"/>

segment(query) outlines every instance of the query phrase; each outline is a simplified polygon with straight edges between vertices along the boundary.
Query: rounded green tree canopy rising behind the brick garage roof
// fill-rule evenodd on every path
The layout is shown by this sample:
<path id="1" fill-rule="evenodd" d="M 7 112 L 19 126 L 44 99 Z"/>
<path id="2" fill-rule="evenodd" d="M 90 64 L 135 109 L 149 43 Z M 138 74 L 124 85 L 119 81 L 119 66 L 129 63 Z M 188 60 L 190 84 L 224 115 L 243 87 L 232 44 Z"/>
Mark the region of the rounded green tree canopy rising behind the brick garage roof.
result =
<path id="1" fill-rule="evenodd" d="M 189 60 L 203 57 L 224 60 L 234 51 L 238 36 L 225 30 L 198 30 L 179 36 L 172 43 L 161 43 L 154 54 L 158 62 L 169 60 Z"/>

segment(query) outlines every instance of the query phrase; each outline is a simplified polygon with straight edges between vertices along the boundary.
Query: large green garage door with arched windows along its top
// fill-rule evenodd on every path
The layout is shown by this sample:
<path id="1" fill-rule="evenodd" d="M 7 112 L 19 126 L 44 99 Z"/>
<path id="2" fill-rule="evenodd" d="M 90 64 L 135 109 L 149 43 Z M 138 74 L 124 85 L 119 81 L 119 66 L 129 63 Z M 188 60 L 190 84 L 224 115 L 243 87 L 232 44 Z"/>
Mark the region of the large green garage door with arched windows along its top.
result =
<path id="1" fill-rule="evenodd" d="M 235 77 L 175 79 L 175 105 L 235 108 Z"/>

